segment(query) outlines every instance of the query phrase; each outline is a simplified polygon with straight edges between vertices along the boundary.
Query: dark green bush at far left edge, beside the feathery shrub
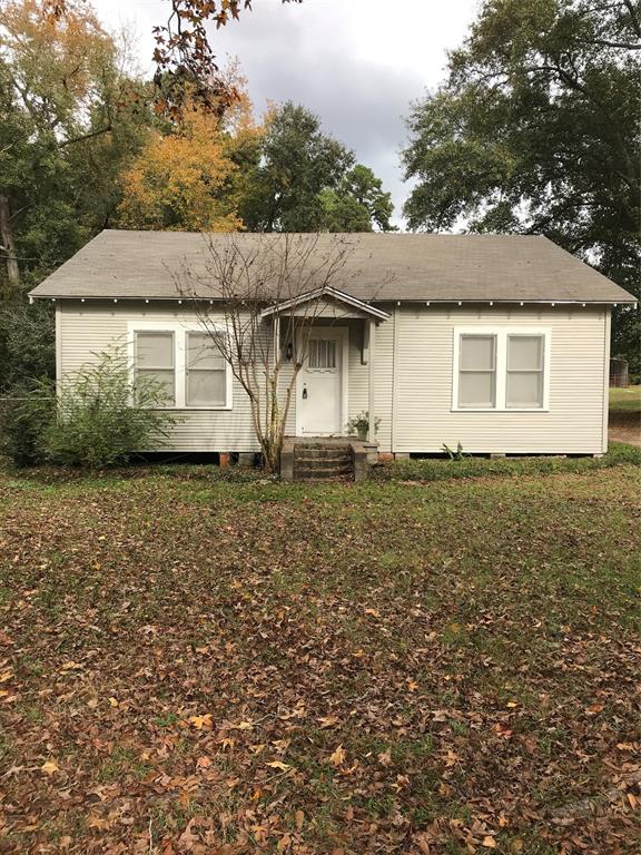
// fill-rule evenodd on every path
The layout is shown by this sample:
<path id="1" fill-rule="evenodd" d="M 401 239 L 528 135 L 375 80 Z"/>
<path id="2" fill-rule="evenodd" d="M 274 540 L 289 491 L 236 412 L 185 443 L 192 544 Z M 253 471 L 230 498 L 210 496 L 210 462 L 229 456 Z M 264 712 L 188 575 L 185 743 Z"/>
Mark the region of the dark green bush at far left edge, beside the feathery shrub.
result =
<path id="1" fill-rule="evenodd" d="M 56 392 L 48 380 L 17 383 L 0 400 L 0 453 L 17 466 L 46 458 L 43 436 L 56 417 Z"/>

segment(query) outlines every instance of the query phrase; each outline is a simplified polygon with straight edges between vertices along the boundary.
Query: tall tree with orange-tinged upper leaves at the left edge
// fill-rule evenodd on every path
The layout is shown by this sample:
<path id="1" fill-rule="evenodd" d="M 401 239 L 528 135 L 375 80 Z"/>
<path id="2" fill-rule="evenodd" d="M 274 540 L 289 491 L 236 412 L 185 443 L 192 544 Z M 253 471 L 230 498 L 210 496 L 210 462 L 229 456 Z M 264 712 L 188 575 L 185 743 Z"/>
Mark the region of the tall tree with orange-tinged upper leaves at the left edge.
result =
<path id="1" fill-rule="evenodd" d="M 0 390 L 52 372 L 52 323 L 26 292 L 109 224 L 152 114 L 87 7 L 0 10 Z"/>

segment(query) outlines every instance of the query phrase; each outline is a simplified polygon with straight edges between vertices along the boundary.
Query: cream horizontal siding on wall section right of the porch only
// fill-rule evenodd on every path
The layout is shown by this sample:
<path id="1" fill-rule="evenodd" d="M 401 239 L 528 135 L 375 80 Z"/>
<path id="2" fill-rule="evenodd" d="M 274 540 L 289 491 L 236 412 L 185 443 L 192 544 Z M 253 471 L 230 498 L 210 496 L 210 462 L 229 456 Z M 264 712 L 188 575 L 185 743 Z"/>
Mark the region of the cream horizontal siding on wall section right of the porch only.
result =
<path id="1" fill-rule="evenodd" d="M 397 309 L 394 451 L 599 453 L 603 443 L 605 309 Z M 453 412 L 456 326 L 551 330 L 548 412 Z"/>

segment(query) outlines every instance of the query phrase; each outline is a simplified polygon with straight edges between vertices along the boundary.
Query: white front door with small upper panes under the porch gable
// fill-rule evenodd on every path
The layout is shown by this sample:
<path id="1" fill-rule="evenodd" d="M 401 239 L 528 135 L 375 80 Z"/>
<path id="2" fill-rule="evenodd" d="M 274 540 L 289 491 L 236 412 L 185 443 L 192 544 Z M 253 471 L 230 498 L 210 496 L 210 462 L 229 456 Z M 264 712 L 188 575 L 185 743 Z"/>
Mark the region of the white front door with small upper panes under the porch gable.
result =
<path id="1" fill-rule="evenodd" d="M 314 330 L 296 383 L 296 433 L 342 434 L 343 332 Z"/>

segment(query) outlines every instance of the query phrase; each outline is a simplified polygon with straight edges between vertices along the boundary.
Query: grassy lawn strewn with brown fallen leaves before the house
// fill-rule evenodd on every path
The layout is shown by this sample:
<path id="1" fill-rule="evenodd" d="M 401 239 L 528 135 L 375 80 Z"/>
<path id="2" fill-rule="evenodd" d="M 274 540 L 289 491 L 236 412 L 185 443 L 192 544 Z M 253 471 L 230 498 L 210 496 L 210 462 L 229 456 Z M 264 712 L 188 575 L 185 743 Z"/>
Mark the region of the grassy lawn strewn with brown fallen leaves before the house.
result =
<path id="1" fill-rule="evenodd" d="M 0 852 L 638 853 L 639 500 L 0 474 Z"/>

